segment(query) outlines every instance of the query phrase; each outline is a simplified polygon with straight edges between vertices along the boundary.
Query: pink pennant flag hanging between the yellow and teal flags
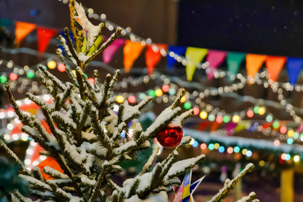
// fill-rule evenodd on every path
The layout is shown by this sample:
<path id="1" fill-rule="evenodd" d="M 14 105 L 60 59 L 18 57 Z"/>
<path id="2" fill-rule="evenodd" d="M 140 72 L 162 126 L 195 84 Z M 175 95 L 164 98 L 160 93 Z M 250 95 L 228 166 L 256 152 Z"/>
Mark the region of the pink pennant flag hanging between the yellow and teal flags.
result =
<path id="1" fill-rule="evenodd" d="M 207 79 L 213 78 L 213 73 L 215 69 L 224 61 L 226 57 L 225 51 L 218 50 L 208 50 L 206 61 L 209 62 L 209 67 L 207 68 Z"/>

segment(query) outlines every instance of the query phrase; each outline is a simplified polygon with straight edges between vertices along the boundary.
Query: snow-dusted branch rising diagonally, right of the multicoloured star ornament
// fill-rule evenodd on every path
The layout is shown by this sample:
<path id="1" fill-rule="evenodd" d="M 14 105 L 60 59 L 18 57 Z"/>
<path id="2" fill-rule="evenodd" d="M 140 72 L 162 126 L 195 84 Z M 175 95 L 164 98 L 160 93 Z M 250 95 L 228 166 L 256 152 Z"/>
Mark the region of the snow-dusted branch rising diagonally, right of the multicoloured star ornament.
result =
<path id="1" fill-rule="evenodd" d="M 219 192 L 213 196 L 209 201 L 207 202 L 222 202 L 223 199 L 227 196 L 228 192 L 232 190 L 236 183 L 248 172 L 251 172 L 253 170 L 253 163 L 249 163 L 246 165 L 246 167 L 232 180 L 226 179 L 224 183 L 224 187 L 219 190 Z"/>

